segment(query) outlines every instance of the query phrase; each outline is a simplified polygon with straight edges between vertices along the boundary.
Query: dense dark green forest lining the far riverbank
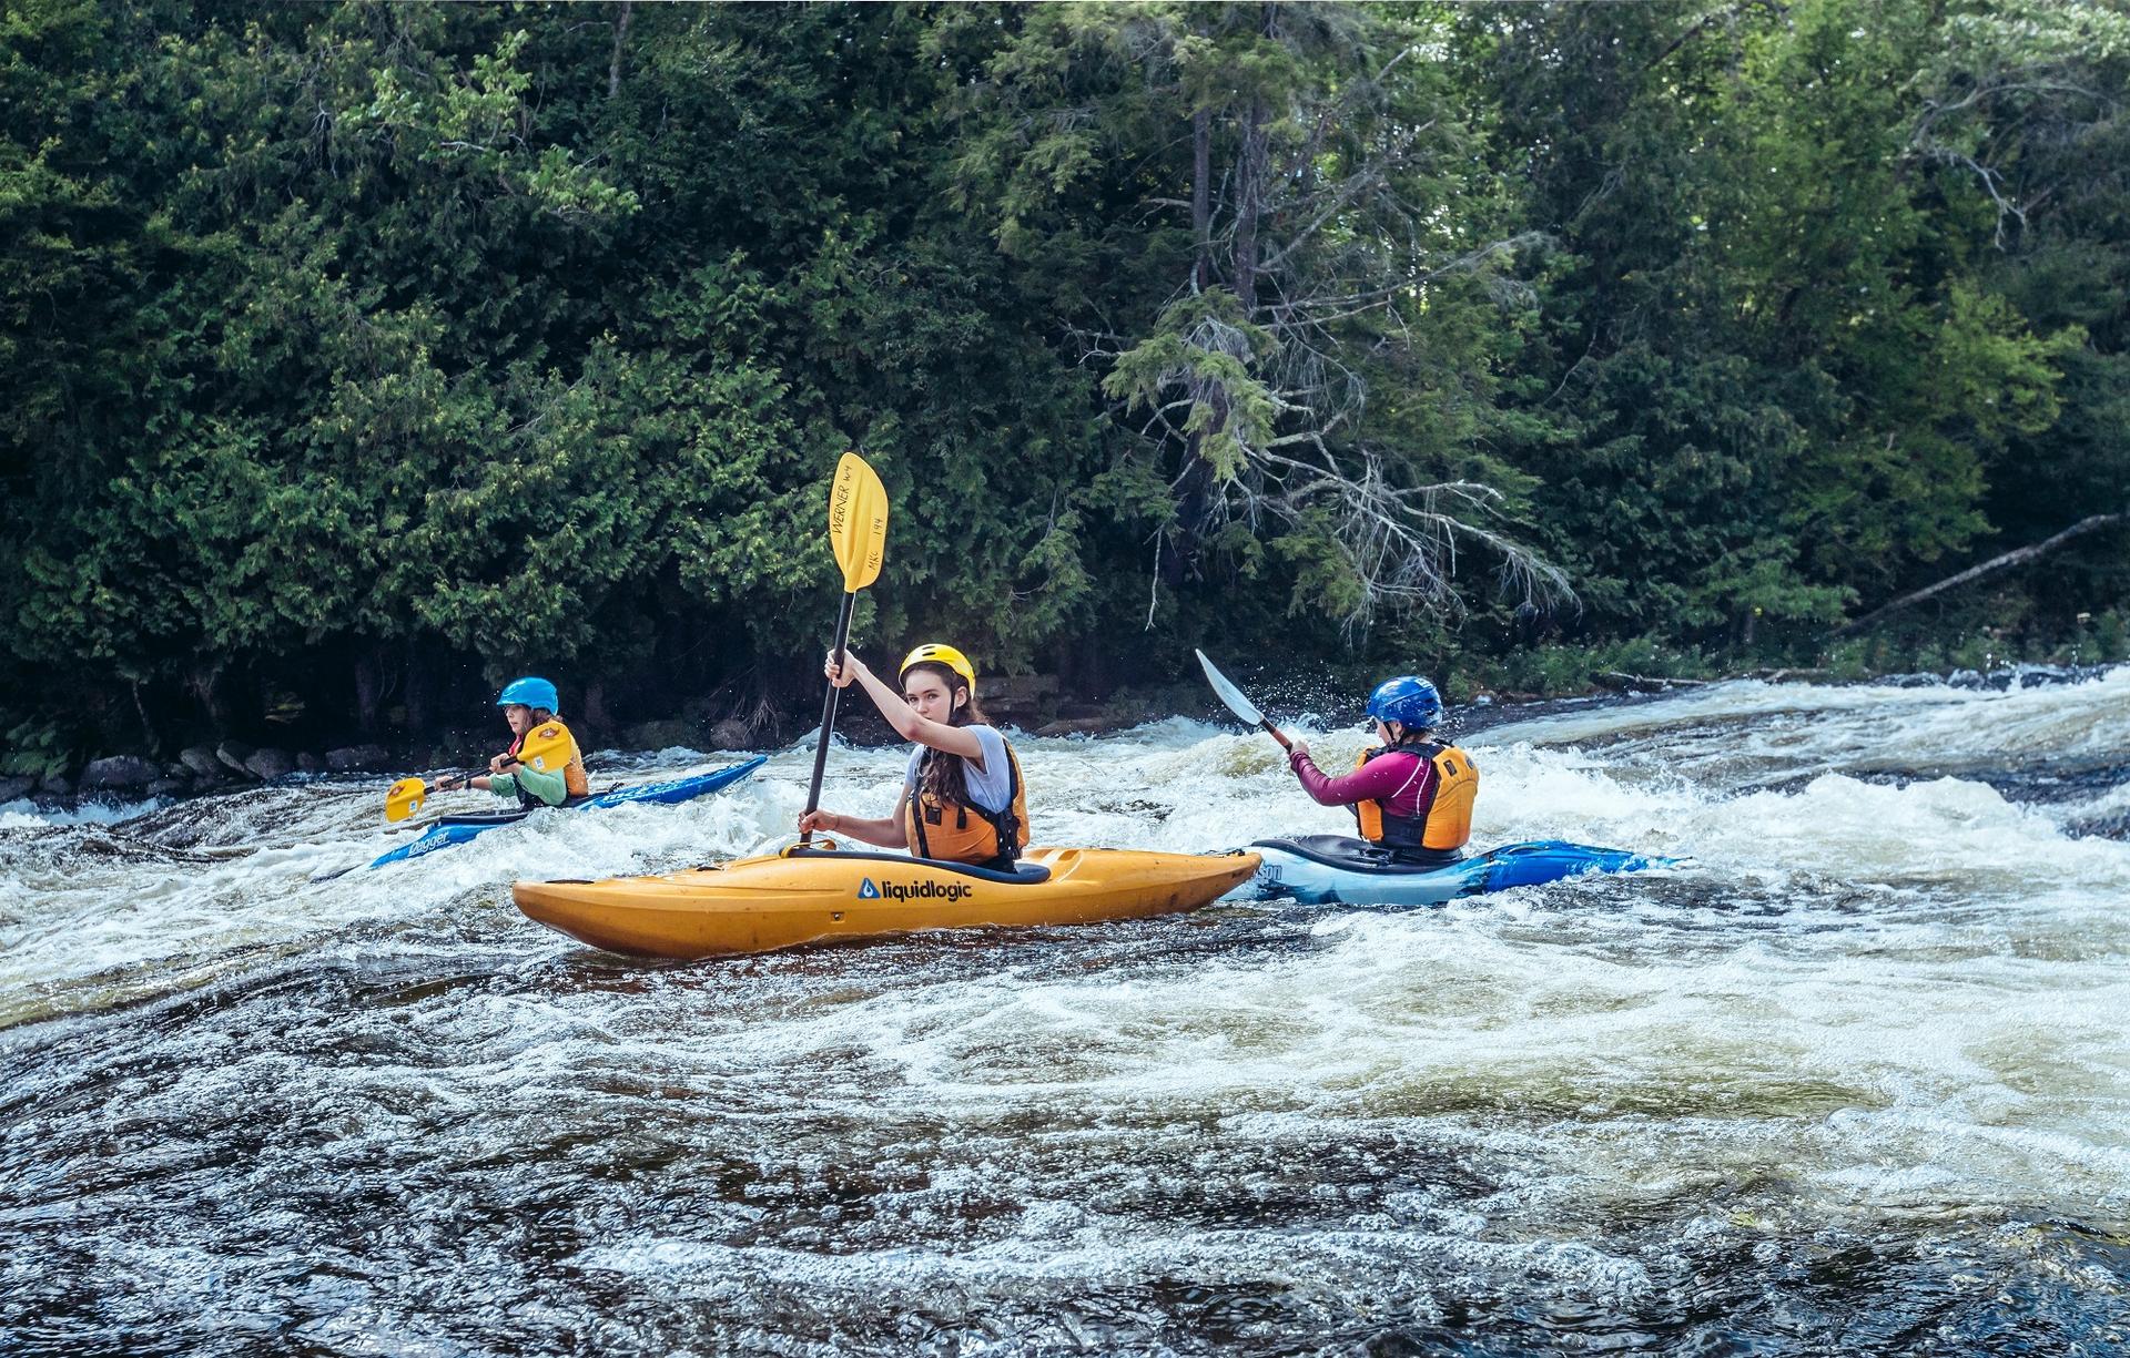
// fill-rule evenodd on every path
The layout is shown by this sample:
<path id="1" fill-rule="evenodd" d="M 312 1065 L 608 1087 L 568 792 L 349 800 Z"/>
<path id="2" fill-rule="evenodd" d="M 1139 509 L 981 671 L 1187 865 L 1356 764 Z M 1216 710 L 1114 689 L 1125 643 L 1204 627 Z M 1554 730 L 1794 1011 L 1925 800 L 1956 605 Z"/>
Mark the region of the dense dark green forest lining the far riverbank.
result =
<path id="1" fill-rule="evenodd" d="M 0 13 L 6 773 L 2130 653 L 2117 0 Z"/>

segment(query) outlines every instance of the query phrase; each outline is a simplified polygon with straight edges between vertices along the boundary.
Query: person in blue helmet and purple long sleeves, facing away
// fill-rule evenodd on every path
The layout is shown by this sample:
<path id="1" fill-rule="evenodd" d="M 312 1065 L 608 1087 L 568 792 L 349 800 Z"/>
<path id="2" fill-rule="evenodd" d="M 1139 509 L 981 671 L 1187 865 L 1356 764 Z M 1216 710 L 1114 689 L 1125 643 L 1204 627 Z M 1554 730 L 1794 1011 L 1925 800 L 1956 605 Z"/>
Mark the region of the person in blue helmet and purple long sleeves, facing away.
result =
<path id="1" fill-rule="evenodd" d="M 1419 675 L 1384 679 L 1367 698 L 1376 739 L 1353 773 L 1331 777 L 1293 741 L 1287 764 L 1301 790 L 1325 807 L 1353 807 L 1361 839 L 1391 849 L 1397 862 L 1440 864 L 1461 858 L 1472 839 L 1478 766 L 1472 756 L 1433 739 L 1442 694 Z"/>

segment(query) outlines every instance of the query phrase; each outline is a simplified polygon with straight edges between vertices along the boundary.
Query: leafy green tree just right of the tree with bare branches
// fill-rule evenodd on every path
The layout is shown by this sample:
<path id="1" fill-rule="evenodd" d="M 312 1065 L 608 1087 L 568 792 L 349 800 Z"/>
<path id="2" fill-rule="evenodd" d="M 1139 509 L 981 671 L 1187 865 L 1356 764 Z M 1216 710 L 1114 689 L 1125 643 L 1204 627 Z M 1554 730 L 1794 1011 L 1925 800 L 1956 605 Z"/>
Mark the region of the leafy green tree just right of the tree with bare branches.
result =
<path id="1" fill-rule="evenodd" d="M 1568 251 L 1542 519 L 1600 626 L 1834 619 L 1987 530 L 2077 328 L 1979 270 L 1987 200 L 1919 143 L 1943 17 L 1904 0 L 1485 11 L 1506 166 Z"/>

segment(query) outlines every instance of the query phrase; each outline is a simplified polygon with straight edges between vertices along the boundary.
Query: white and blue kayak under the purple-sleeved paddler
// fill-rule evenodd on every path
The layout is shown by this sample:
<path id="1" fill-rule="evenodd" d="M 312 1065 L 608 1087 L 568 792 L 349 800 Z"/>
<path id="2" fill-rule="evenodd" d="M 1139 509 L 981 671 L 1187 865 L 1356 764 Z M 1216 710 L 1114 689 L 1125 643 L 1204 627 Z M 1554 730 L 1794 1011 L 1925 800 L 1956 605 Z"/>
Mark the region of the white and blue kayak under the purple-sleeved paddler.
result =
<path id="1" fill-rule="evenodd" d="M 1681 862 L 1563 839 L 1502 845 L 1433 866 L 1393 862 L 1387 849 L 1344 834 L 1261 839 L 1248 851 L 1263 858 L 1263 864 L 1235 896 L 1301 905 L 1446 905 L 1514 885 L 1544 885 L 1585 873 L 1670 868 Z"/>

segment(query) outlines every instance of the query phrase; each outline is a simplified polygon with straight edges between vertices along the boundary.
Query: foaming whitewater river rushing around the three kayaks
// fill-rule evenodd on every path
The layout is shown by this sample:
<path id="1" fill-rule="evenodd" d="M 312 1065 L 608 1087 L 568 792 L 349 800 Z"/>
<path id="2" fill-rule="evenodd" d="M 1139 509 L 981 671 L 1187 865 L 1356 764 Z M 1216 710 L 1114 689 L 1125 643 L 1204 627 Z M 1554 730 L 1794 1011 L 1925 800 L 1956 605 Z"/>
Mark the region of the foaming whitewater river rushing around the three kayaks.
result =
<path id="1" fill-rule="evenodd" d="M 317 885 L 381 779 L 17 802 L 0 1352 L 2130 1352 L 2130 668 L 2043 679 L 1470 734 L 1476 843 L 1681 871 L 697 964 L 509 883 L 771 847 L 805 751 Z M 1344 828 L 1233 728 L 1020 749 L 1037 843 Z"/>

